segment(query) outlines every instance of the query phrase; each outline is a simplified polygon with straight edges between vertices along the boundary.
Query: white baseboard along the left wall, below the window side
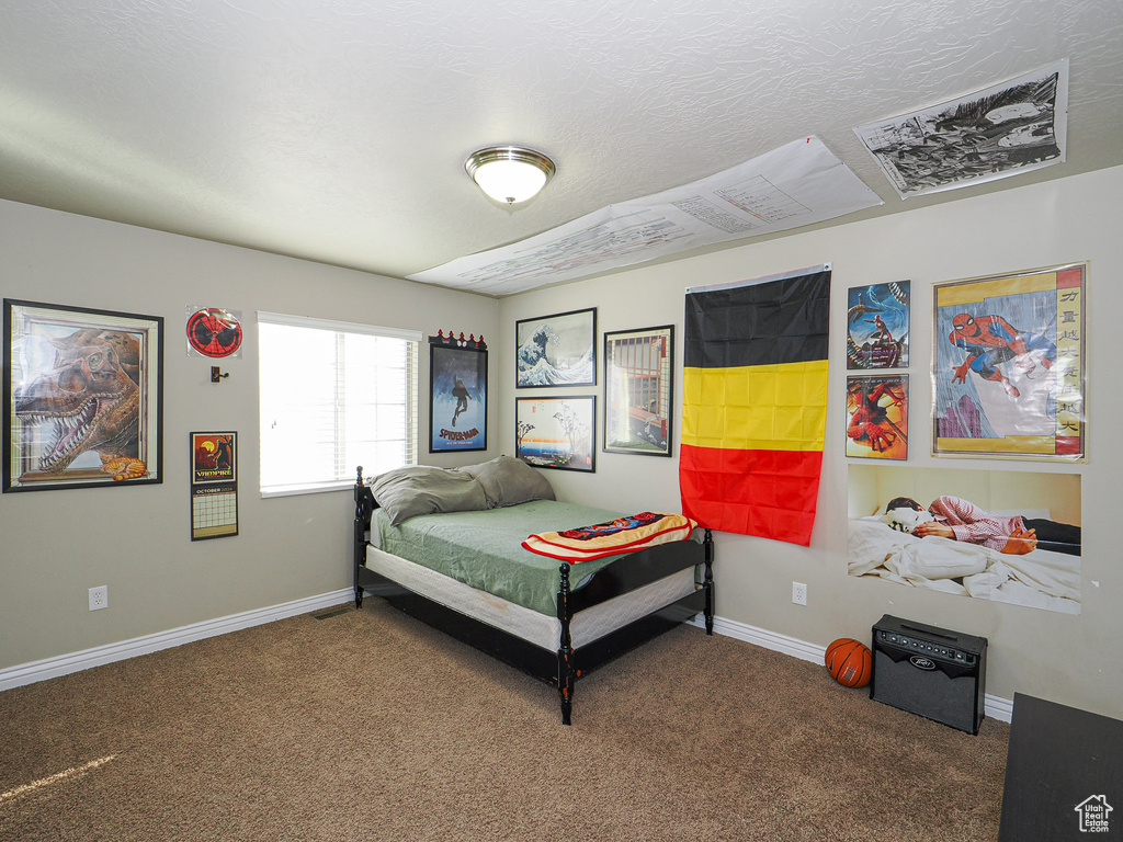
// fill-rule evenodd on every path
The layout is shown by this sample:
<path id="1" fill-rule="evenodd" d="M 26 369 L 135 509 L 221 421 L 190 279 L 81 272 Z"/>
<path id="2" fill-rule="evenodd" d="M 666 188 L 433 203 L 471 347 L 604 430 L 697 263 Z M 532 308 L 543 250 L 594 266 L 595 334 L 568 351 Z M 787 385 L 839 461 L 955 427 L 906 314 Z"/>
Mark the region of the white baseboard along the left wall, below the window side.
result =
<path id="1" fill-rule="evenodd" d="M 265 608 L 245 611 L 240 614 L 204 620 L 201 623 L 183 625 L 179 629 L 170 629 L 155 634 L 146 634 L 143 638 L 122 640 L 119 643 L 109 643 L 93 649 L 84 649 L 81 652 L 71 652 L 57 658 L 45 658 L 40 661 L 20 663 L 7 669 L 0 669 L 0 692 L 20 687 L 25 684 L 44 681 L 48 678 L 57 678 L 70 672 L 99 667 L 102 663 L 135 658 L 138 655 L 148 655 L 161 649 L 190 643 L 194 640 L 213 638 L 219 634 L 248 629 L 252 625 L 272 623 L 274 620 L 283 620 L 298 614 L 307 614 L 310 611 L 329 608 L 341 603 L 350 602 L 355 598 L 354 588 L 334 591 L 319 596 L 309 596 L 303 600 L 294 600 L 282 605 L 271 605 Z"/>

